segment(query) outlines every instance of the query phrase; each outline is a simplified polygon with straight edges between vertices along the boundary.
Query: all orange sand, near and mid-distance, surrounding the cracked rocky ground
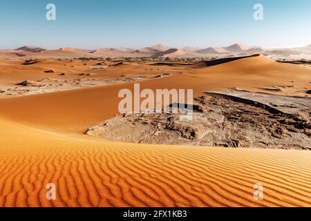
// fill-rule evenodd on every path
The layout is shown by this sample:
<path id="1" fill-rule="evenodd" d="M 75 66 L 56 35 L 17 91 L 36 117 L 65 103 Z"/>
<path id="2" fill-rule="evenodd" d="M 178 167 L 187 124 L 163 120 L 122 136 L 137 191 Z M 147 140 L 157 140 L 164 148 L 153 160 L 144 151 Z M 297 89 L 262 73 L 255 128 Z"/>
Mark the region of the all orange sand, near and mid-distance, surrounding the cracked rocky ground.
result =
<path id="1" fill-rule="evenodd" d="M 119 114 L 118 91 L 136 81 L 153 90 L 193 88 L 195 97 L 208 90 L 310 97 L 310 68 L 263 55 L 214 66 L 107 62 L 109 68 L 94 70 L 97 61 L 84 63 L 1 60 L 1 85 L 8 87 L 47 75 L 134 79 L 1 96 L 0 206 L 311 206 L 310 151 L 129 144 L 84 135 Z M 51 182 L 56 200 L 46 200 Z M 256 183 L 264 186 L 264 200 L 254 200 Z"/>

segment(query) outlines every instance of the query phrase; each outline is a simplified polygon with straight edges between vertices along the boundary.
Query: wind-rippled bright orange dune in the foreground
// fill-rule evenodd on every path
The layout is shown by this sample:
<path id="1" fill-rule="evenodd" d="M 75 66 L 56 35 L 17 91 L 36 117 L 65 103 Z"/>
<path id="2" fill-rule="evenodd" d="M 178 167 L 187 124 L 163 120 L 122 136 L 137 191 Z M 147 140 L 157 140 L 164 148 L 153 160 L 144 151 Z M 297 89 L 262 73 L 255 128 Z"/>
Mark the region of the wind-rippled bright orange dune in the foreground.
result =
<path id="1" fill-rule="evenodd" d="M 0 206 L 311 206 L 310 151 L 77 140 L 3 119 L 0 131 Z"/>

